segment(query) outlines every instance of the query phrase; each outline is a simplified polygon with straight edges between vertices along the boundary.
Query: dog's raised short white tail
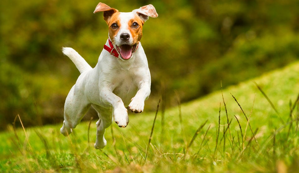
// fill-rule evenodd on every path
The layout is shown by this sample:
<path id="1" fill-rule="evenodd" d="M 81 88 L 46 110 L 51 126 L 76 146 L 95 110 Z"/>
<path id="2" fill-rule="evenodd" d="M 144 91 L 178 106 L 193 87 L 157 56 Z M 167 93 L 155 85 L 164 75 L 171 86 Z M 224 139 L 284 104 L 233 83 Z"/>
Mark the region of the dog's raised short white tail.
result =
<path id="1" fill-rule="evenodd" d="M 64 55 L 68 56 L 71 59 L 80 73 L 83 71 L 91 70 L 92 67 L 85 61 L 81 55 L 76 52 L 73 48 L 62 48 L 62 52 Z"/>

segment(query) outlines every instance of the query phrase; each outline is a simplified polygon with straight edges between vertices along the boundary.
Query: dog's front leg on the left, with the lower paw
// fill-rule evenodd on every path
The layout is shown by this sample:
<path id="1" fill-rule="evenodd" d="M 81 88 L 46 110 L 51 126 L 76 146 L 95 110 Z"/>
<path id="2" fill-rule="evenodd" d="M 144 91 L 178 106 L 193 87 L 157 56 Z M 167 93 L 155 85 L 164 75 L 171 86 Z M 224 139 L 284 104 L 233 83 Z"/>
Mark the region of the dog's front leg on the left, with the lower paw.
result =
<path id="1" fill-rule="evenodd" d="M 102 90 L 100 93 L 102 101 L 112 105 L 114 121 L 119 127 L 126 127 L 129 123 L 128 110 L 124 106 L 121 98 L 112 93 L 109 89 Z"/>

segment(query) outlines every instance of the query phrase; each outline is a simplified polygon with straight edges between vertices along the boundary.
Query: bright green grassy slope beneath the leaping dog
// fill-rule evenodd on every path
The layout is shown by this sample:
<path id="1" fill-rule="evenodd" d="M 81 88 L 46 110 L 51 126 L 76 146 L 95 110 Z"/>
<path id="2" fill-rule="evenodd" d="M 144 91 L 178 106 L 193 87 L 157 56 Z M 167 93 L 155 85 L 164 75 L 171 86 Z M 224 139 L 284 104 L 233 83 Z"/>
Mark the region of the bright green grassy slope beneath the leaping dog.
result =
<path id="1" fill-rule="evenodd" d="M 64 137 L 60 125 L 0 134 L 2 172 L 295 172 L 299 63 L 165 110 L 112 124 L 93 148 L 95 121 Z M 225 81 L 223 81 L 225 82 Z M 175 93 L 174 93 L 175 94 Z M 163 98 L 163 97 L 162 97 Z M 22 115 L 15 123 L 21 123 Z"/>

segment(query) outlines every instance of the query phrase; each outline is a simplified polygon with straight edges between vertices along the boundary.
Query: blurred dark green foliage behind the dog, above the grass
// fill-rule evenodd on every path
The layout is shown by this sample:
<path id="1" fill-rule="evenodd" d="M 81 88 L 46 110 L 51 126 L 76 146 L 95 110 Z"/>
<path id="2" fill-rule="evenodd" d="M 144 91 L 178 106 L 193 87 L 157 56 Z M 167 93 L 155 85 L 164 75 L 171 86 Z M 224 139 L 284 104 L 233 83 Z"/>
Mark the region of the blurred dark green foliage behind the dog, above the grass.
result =
<path id="1" fill-rule="evenodd" d="M 62 47 L 91 66 L 107 40 L 95 0 L 0 2 L 0 130 L 19 114 L 24 125 L 63 121 L 64 100 L 79 72 Z M 259 76 L 299 59 L 298 0 L 110 0 L 127 12 L 153 4 L 141 42 L 152 75 L 145 111 L 167 107 Z M 246 91 L 244 91 L 246 92 Z M 85 119 L 97 116 L 90 111 Z"/>

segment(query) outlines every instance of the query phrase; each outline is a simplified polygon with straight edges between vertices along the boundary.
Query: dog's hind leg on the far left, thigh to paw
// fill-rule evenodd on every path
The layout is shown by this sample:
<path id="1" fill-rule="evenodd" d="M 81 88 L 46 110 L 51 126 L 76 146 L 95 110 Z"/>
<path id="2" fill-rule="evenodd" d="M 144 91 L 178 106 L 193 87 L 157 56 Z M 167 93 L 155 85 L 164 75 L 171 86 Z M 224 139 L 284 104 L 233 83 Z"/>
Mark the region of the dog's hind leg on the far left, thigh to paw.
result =
<path id="1" fill-rule="evenodd" d="M 60 129 L 61 134 L 68 136 L 72 133 L 72 129 L 80 123 L 90 105 L 83 93 L 75 92 L 74 85 L 64 103 L 64 121 Z"/>

